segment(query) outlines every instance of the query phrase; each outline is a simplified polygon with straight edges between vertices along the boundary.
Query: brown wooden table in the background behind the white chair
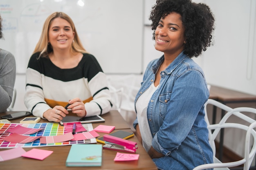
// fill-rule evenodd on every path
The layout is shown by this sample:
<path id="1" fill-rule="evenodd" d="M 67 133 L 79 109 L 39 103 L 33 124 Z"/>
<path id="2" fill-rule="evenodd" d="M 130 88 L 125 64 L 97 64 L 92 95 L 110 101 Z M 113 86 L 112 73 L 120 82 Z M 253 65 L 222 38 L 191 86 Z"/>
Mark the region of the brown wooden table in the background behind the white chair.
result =
<path id="1" fill-rule="evenodd" d="M 252 102 L 256 104 L 256 96 L 238 92 L 235 90 L 218 87 L 211 85 L 210 88 L 210 99 L 217 100 L 218 102 L 221 102 L 224 105 L 227 105 L 229 103 L 248 103 Z M 256 105 L 255 105 L 256 107 Z M 221 111 L 221 118 L 225 115 L 225 111 Z M 216 106 L 213 107 L 213 121 L 212 124 L 216 123 Z M 224 129 L 221 129 L 220 131 L 220 148 L 219 148 L 219 160 L 222 161 L 222 153 L 223 153 L 223 139 L 224 139 Z"/>

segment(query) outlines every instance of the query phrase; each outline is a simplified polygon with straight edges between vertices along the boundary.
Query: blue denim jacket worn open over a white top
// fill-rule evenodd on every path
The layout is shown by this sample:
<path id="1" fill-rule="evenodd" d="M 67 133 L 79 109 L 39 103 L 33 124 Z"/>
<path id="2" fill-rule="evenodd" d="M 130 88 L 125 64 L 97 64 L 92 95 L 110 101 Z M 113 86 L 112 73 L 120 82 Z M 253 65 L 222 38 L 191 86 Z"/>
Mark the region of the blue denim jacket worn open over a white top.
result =
<path id="1" fill-rule="evenodd" d="M 154 83 L 163 61 L 164 56 L 148 64 L 135 103 Z M 204 103 L 209 98 L 209 90 L 202 69 L 181 52 L 160 75 L 159 87 L 147 109 L 152 146 L 165 155 L 153 159 L 157 168 L 192 170 L 195 166 L 212 163 L 213 152 L 204 120 Z M 134 127 L 137 123 L 136 119 Z"/>

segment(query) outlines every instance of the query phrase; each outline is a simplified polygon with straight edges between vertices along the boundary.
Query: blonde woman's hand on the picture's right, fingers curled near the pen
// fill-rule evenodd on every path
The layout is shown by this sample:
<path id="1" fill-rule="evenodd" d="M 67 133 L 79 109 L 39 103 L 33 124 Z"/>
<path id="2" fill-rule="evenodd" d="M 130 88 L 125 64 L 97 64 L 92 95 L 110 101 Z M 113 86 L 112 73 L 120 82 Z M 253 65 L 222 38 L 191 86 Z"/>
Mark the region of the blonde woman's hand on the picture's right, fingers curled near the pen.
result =
<path id="1" fill-rule="evenodd" d="M 86 116 L 86 110 L 83 101 L 80 98 L 74 98 L 68 102 L 70 105 L 67 109 L 71 109 L 72 113 L 76 113 L 79 117 Z"/>

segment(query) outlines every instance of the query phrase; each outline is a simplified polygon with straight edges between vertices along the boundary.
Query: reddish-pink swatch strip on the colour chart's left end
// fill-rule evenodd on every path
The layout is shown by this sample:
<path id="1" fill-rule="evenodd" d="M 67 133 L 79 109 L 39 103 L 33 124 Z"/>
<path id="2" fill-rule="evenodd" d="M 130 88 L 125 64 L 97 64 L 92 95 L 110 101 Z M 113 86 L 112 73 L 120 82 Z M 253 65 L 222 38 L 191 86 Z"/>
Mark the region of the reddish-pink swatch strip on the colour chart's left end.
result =
<path id="1" fill-rule="evenodd" d="M 11 135 L 4 137 L 4 141 L 25 144 L 25 143 L 33 142 L 39 137 L 40 136 L 24 136 L 24 135 L 19 135 L 17 133 L 12 133 Z"/>

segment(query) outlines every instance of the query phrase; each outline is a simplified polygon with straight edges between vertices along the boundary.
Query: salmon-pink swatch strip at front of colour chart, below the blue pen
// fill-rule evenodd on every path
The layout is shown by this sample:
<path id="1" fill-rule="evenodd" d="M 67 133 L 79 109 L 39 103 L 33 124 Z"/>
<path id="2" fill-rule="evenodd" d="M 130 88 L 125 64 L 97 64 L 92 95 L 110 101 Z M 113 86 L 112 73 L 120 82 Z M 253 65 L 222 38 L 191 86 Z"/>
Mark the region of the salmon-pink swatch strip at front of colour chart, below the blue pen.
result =
<path id="1" fill-rule="evenodd" d="M 72 133 L 66 133 L 64 135 L 57 135 L 57 136 L 42 136 L 40 137 L 41 144 L 52 144 L 58 142 L 66 142 L 73 139 Z"/>

